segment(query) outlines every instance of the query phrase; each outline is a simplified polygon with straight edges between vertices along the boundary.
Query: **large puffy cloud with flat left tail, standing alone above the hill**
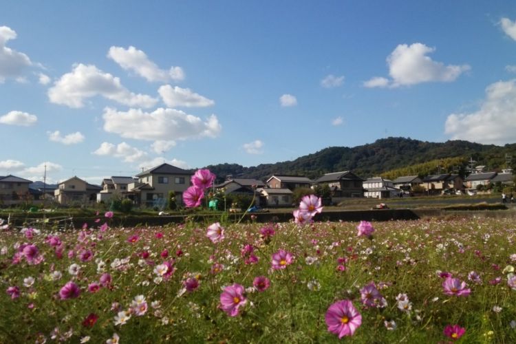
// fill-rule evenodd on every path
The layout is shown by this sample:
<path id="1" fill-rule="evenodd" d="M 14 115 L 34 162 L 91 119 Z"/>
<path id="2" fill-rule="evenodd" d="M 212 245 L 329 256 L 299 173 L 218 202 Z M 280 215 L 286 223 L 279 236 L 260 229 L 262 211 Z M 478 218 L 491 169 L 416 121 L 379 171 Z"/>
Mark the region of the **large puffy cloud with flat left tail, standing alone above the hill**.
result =
<path id="1" fill-rule="evenodd" d="M 427 54 L 435 52 L 435 47 L 422 43 L 400 44 L 387 56 L 390 87 L 409 86 L 419 83 L 451 82 L 460 74 L 471 69 L 469 65 L 444 65 L 433 61 Z M 364 83 L 366 87 L 385 87 L 385 78 L 375 77 Z"/>

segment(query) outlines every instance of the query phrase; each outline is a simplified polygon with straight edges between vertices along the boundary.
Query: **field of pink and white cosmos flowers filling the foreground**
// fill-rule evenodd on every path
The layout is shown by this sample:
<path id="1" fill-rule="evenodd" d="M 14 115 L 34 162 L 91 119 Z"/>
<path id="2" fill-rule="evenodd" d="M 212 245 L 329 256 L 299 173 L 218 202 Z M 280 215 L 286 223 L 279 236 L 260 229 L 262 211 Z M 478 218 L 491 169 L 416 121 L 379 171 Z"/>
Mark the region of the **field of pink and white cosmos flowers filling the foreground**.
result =
<path id="1" fill-rule="evenodd" d="M 321 211 L 307 196 L 289 223 L 3 225 L 0 343 L 516 343 L 514 219 Z"/>

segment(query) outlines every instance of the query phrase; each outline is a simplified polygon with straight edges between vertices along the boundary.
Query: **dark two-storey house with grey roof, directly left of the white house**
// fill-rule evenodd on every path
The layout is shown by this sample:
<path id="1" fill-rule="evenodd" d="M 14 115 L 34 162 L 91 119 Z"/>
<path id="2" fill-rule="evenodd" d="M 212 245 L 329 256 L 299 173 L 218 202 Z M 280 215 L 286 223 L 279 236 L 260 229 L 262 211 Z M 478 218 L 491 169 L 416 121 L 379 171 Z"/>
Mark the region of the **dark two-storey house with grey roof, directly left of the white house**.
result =
<path id="1" fill-rule="evenodd" d="M 332 197 L 363 197 L 363 181 L 352 171 L 342 171 L 326 173 L 321 178 L 314 180 L 314 184 L 330 186 Z"/>

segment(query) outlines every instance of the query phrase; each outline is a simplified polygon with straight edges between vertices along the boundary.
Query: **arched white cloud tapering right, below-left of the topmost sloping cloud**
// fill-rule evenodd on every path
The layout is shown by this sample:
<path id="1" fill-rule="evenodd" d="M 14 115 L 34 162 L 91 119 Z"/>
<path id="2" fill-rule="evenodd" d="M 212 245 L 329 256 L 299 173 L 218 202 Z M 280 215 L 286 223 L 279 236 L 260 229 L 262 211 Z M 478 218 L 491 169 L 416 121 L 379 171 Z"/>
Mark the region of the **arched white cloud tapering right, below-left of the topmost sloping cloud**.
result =
<path id="1" fill-rule="evenodd" d="M 52 103 L 79 108 L 84 100 L 103 96 L 120 104 L 137 107 L 153 107 L 157 99 L 145 94 L 134 94 L 122 86 L 120 78 L 105 73 L 94 65 L 79 63 L 72 72 L 64 74 L 48 90 Z"/>

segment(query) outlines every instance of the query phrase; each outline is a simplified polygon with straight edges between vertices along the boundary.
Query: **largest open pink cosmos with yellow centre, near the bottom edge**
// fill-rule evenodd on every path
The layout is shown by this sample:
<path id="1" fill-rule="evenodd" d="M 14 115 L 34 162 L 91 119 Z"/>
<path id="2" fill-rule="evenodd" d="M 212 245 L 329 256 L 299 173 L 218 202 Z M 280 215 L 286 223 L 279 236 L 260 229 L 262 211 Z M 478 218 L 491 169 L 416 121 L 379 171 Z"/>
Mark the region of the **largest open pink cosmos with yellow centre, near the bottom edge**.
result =
<path id="1" fill-rule="evenodd" d="M 339 339 L 343 336 L 352 336 L 362 324 L 362 316 L 350 300 L 341 300 L 330 305 L 325 320 L 328 331 L 336 334 Z"/>

